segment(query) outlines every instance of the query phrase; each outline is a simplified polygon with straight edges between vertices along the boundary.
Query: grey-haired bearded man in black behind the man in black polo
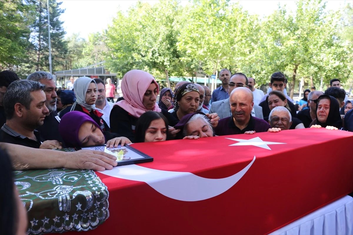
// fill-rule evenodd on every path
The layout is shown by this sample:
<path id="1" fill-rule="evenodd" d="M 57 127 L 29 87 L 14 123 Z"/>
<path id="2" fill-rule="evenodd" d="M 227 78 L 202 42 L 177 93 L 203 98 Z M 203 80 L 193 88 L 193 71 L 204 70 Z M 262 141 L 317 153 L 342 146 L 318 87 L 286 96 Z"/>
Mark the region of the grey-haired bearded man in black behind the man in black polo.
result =
<path id="1" fill-rule="evenodd" d="M 46 95 L 46 103 L 49 113 L 46 114 L 43 125 L 39 126 L 36 130 L 41 133 L 41 137 L 44 140 L 57 140 L 63 143 L 62 138 L 59 134 L 59 122 L 60 118 L 56 112 L 56 100 L 58 95 L 56 95 L 56 85 L 55 78 L 52 74 L 37 71 L 28 75 L 27 80 L 40 82 L 45 85 L 44 93 Z"/>

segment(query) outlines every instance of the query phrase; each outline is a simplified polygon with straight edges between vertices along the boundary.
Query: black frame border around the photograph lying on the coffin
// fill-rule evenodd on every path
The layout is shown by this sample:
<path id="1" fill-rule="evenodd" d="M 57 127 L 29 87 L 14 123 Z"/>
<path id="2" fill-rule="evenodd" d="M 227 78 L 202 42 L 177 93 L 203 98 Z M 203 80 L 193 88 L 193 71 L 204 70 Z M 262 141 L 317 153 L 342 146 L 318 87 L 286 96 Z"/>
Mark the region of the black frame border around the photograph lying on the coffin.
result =
<path id="1" fill-rule="evenodd" d="M 80 149 L 84 149 L 84 150 L 100 150 L 100 148 L 104 147 L 104 149 L 110 149 L 110 148 L 106 148 L 105 144 L 102 145 L 95 145 L 95 146 L 85 146 L 82 147 Z M 138 164 L 138 163 L 144 163 L 144 162 L 152 162 L 153 161 L 153 157 L 148 156 L 145 153 L 142 153 L 141 151 L 137 150 L 136 148 L 130 146 L 130 145 L 124 145 L 124 146 L 118 146 L 118 148 L 116 149 L 129 149 L 131 150 L 134 154 L 138 154 L 140 155 L 140 158 L 134 158 L 134 159 L 128 159 L 128 160 L 120 160 L 120 161 L 116 161 L 118 163 L 118 165 L 116 166 L 125 166 L 125 165 L 132 165 L 132 164 Z M 114 150 L 114 148 L 112 148 L 112 150 Z"/>

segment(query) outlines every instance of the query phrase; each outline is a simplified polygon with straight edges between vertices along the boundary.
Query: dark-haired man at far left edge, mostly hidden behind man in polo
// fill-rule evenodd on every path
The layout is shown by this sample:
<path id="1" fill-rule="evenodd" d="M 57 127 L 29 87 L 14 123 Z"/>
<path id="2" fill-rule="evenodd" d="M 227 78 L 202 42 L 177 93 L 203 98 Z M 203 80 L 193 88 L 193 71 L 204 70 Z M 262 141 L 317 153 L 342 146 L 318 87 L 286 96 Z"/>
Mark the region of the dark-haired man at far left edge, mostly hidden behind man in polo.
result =
<path id="1" fill-rule="evenodd" d="M 6 123 L 6 116 L 4 111 L 4 95 L 7 87 L 11 82 L 19 80 L 16 73 L 10 70 L 4 70 L 0 73 L 0 126 Z"/>

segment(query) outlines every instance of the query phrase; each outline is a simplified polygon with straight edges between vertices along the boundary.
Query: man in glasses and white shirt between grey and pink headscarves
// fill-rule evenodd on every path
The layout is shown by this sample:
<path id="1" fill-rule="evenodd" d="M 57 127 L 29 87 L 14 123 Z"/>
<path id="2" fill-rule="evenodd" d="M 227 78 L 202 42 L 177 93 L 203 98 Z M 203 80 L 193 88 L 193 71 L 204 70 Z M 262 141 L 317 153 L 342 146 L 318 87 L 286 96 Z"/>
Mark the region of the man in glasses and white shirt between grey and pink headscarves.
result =
<path id="1" fill-rule="evenodd" d="M 98 98 L 96 101 L 96 109 L 103 113 L 103 120 L 106 121 L 107 125 L 110 128 L 110 112 L 113 109 L 114 103 L 108 102 L 106 98 L 106 91 L 105 91 L 105 86 L 104 82 L 102 79 L 96 78 L 94 79 L 96 81 L 97 87 L 98 87 Z"/>

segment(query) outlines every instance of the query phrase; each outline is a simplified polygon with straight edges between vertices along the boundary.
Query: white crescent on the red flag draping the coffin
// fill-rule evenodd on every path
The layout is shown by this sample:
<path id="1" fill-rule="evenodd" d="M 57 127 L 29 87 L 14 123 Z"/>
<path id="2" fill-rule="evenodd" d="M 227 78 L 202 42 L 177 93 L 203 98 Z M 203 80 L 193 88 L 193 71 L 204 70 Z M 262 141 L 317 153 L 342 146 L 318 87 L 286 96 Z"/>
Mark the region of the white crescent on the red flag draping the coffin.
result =
<path id="1" fill-rule="evenodd" d="M 145 182 L 157 192 L 175 200 L 194 202 L 215 197 L 233 185 L 249 170 L 253 160 L 241 171 L 222 179 L 208 179 L 190 172 L 161 171 L 138 165 L 114 167 L 100 172 L 111 177 Z"/>

